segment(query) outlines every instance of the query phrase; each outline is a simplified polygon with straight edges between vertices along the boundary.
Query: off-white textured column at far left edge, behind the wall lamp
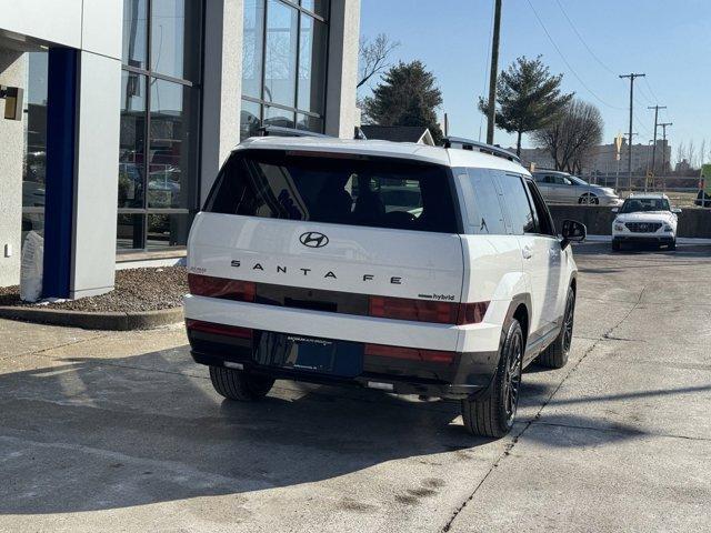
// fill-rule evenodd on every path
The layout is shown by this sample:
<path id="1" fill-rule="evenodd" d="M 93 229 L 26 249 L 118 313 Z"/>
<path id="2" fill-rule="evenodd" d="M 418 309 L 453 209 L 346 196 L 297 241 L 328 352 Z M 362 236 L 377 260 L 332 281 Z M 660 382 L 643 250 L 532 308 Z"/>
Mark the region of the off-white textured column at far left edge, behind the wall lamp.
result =
<path id="1" fill-rule="evenodd" d="M 24 87 L 27 56 L 0 49 L 0 84 Z M 26 97 L 27 98 L 27 93 Z M 22 221 L 22 159 L 24 121 L 6 120 L 0 100 L 0 286 L 20 282 L 20 228 Z"/>

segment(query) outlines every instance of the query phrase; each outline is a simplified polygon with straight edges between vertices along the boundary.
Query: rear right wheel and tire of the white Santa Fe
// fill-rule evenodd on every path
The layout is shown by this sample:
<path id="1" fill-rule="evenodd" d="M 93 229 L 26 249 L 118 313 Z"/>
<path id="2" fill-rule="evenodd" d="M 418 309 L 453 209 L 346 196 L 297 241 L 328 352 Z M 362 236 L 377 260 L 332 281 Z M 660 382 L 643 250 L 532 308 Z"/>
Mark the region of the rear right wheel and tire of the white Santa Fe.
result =
<path id="1" fill-rule="evenodd" d="M 462 400 L 464 428 L 472 435 L 499 439 L 513 428 L 525 343 L 518 320 L 505 331 L 499 366 L 485 396 Z"/>

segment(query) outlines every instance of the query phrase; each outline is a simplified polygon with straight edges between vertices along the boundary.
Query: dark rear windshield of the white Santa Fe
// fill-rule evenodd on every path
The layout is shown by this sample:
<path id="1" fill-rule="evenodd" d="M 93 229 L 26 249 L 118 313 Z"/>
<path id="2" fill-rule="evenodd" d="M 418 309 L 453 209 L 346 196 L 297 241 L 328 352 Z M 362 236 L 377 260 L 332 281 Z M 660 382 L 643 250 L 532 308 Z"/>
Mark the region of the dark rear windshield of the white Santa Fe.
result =
<path id="1" fill-rule="evenodd" d="M 351 158 L 276 150 L 234 152 L 204 210 L 457 233 L 448 168 L 392 158 Z"/>

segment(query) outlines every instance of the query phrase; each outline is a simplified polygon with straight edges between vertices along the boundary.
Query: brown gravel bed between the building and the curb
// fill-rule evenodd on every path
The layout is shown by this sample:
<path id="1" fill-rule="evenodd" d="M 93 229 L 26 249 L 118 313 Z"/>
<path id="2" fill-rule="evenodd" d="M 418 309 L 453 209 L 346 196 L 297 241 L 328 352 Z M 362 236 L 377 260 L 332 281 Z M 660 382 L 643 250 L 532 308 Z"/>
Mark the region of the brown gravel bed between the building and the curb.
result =
<path id="1" fill-rule="evenodd" d="M 108 294 L 38 305 L 21 301 L 20 288 L 14 285 L 0 288 L 0 305 L 96 312 L 156 311 L 182 305 L 182 296 L 187 292 L 184 266 L 130 269 L 117 271 L 116 289 Z"/>

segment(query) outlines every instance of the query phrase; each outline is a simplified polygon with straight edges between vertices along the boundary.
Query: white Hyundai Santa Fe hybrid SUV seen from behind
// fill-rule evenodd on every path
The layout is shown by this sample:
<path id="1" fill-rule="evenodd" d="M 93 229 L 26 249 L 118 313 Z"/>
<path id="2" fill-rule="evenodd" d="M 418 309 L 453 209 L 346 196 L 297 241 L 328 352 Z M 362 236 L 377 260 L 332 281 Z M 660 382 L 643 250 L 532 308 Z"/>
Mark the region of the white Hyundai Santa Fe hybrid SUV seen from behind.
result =
<path id="1" fill-rule="evenodd" d="M 216 390 L 250 401 L 289 379 L 455 399 L 470 432 L 505 434 L 522 370 L 567 362 L 569 243 L 585 228 L 559 238 L 513 157 L 465 148 L 240 144 L 188 243 L 188 336 Z"/>

